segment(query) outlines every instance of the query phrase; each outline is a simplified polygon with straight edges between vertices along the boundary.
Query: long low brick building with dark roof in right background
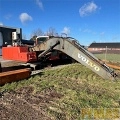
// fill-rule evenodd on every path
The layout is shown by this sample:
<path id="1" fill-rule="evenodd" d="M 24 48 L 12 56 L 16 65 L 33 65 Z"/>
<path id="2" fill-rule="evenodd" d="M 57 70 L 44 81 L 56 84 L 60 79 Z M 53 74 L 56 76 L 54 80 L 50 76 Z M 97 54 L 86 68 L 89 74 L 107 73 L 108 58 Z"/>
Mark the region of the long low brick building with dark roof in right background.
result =
<path id="1" fill-rule="evenodd" d="M 88 51 L 91 53 L 115 53 L 120 54 L 120 42 L 116 43 L 92 43 L 88 47 Z"/>

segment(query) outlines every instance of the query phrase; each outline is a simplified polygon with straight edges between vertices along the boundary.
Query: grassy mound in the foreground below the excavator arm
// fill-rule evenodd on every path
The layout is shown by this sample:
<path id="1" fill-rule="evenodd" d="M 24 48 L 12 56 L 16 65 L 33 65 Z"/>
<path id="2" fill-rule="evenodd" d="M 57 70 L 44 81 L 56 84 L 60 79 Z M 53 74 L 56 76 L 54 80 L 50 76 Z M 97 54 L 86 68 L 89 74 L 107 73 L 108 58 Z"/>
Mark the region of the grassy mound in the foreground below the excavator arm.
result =
<path id="1" fill-rule="evenodd" d="M 47 112 L 55 119 L 81 119 L 82 108 L 119 108 L 120 81 L 104 80 L 81 64 L 43 70 L 29 78 L 0 87 L 0 91 L 33 86 L 34 93 L 54 90 L 60 98 L 47 105 Z"/>

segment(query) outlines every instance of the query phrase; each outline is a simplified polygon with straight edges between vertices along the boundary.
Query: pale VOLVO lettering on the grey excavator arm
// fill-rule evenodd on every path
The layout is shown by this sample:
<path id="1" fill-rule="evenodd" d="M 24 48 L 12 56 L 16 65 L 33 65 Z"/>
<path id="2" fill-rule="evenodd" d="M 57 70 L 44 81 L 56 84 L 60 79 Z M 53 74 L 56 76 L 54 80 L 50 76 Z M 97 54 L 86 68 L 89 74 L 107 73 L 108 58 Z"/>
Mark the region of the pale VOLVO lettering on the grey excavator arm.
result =
<path id="1" fill-rule="evenodd" d="M 94 63 L 92 63 L 87 58 L 85 58 L 84 56 L 82 56 L 80 53 L 78 53 L 78 58 L 80 58 L 83 62 L 85 62 L 90 67 L 93 67 L 95 69 L 95 71 L 99 71 L 100 70 L 100 68 L 98 66 L 96 66 Z"/>

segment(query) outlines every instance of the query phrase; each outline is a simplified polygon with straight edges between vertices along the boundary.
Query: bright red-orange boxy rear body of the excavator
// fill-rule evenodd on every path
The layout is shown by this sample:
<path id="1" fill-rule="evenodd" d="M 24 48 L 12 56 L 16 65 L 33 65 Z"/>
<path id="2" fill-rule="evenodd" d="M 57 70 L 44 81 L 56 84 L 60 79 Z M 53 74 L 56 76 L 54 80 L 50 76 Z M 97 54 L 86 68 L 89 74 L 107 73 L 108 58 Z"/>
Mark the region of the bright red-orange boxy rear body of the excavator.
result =
<path id="1" fill-rule="evenodd" d="M 27 46 L 3 47 L 2 57 L 7 60 L 17 60 L 23 62 L 37 61 L 36 52 L 29 52 Z"/>

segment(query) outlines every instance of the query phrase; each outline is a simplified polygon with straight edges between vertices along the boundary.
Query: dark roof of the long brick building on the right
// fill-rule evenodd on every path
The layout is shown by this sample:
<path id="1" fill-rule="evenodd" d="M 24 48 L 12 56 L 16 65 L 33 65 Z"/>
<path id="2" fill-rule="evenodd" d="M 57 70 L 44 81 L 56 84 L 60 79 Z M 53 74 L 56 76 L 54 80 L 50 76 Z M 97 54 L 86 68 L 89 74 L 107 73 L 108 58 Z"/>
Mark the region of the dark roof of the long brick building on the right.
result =
<path id="1" fill-rule="evenodd" d="M 116 43 L 92 43 L 89 48 L 120 48 L 120 42 Z"/>

